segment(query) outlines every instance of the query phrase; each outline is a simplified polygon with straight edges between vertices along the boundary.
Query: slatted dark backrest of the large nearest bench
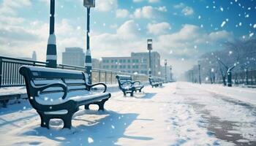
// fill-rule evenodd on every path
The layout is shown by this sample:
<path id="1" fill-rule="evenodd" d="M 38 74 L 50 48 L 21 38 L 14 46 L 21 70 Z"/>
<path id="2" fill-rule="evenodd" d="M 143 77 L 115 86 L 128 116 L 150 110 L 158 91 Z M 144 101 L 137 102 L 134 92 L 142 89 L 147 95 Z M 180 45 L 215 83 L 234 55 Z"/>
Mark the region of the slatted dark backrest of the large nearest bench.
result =
<path id="1" fill-rule="evenodd" d="M 31 91 L 33 90 L 33 85 L 39 87 L 52 83 L 64 83 L 67 85 L 68 91 L 84 91 L 87 89 L 85 74 L 80 71 L 52 69 L 37 66 L 21 66 L 20 74 L 22 74 L 25 78 L 29 97 L 36 96 Z M 52 87 L 42 91 L 42 93 L 54 93 L 61 91 L 63 91 L 63 88 Z"/>

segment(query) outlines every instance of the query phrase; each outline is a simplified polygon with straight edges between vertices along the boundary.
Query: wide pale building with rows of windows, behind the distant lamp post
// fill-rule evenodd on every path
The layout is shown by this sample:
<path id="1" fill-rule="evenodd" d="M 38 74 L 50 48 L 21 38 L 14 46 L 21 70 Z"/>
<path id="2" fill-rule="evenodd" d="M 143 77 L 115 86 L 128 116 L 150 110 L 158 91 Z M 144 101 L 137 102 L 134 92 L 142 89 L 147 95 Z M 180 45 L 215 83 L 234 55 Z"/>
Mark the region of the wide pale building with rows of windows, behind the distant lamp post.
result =
<path id="1" fill-rule="evenodd" d="M 104 57 L 102 58 L 102 69 L 148 74 L 148 53 L 131 53 L 130 57 Z M 159 76 L 160 55 L 157 52 L 151 53 L 151 70 L 153 76 Z"/>

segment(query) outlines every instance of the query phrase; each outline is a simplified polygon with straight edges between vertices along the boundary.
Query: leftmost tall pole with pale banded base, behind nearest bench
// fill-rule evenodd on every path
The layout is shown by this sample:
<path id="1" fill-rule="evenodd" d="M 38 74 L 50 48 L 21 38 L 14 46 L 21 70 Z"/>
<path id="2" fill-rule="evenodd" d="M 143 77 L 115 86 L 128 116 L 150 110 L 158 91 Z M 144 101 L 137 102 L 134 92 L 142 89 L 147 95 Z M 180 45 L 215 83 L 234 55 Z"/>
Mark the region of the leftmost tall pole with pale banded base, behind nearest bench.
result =
<path id="1" fill-rule="evenodd" d="M 51 68 L 57 67 L 56 36 L 54 34 L 55 0 L 50 0 L 50 36 L 48 38 L 46 62 Z"/>

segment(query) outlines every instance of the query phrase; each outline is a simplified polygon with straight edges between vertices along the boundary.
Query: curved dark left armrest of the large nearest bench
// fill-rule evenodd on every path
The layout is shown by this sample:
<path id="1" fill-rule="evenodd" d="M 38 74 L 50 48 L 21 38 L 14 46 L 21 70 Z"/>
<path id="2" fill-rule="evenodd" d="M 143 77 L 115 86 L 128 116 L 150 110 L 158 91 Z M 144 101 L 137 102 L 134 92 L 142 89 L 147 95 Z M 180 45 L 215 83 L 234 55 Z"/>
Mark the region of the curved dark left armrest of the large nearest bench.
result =
<path id="1" fill-rule="evenodd" d="M 51 87 L 60 87 L 63 88 L 64 91 L 64 95 L 61 97 L 61 99 L 65 99 L 67 96 L 67 85 L 65 85 L 64 83 L 52 83 L 52 84 L 48 84 L 48 85 L 42 85 L 42 86 L 36 86 L 34 85 L 34 83 L 31 84 L 32 87 L 34 88 L 34 90 L 36 91 L 35 93 L 37 94 L 38 91 L 44 91 L 47 88 L 51 88 Z"/>

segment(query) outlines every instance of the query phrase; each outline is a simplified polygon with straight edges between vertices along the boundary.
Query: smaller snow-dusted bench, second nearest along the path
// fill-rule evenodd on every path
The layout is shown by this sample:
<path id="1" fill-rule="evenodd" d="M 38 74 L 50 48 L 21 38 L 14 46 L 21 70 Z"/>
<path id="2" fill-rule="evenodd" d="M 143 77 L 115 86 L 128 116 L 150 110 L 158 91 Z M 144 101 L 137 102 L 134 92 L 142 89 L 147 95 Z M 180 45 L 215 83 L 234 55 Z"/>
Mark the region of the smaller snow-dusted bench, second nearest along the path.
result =
<path id="1" fill-rule="evenodd" d="M 121 91 L 123 91 L 124 96 L 127 93 L 130 93 L 133 96 L 133 92 L 140 91 L 144 87 L 140 81 L 132 81 L 132 77 L 129 75 L 116 75 L 116 79 L 118 80 L 118 87 Z"/>

